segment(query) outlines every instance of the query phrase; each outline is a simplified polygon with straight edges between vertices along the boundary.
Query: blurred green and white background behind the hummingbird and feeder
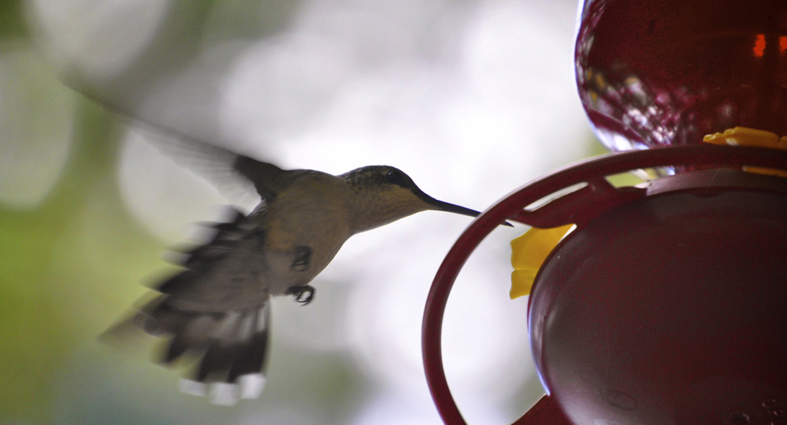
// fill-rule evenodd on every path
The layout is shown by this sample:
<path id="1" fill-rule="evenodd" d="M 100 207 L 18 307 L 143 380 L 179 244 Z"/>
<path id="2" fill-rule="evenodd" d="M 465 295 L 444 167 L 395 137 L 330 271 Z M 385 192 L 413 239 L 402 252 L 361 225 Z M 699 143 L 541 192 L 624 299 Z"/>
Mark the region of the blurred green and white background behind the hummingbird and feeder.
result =
<path id="1" fill-rule="evenodd" d="M 575 8 L 0 2 L 0 423 L 438 423 L 420 321 L 464 216 L 423 212 L 357 235 L 312 283 L 311 305 L 276 299 L 260 400 L 210 405 L 179 393 L 150 346 L 97 341 L 194 222 L 228 201 L 249 208 L 157 139 L 179 133 L 283 168 L 390 164 L 435 198 L 486 209 L 601 152 L 576 94 Z M 508 299 L 508 243 L 526 229 L 487 238 L 449 300 L 446 373 L 471 423 L 510 423 L 543 392 L 527 298 Z"/>

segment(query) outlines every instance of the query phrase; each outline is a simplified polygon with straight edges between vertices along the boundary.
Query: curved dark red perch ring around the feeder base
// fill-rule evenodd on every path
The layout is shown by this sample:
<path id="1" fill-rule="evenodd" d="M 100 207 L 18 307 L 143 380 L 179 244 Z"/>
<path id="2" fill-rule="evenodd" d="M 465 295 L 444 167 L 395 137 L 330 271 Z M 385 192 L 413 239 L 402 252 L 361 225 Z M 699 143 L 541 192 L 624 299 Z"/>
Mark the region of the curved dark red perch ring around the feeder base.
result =
<path id="1" fill-rule="evenodd" d="M 700 145 L 615 153 L 605 157 L 584 161 L 580 164 L 575 164 L 553 172 L 549 176 L 536 179 L 520 187 L 518 190 L 515 190 L 512 194 L 509 194 L 508 197 L 498 201 L 497 204 L 493 205 L 492 208 L 484 212 L 467 227 L 446 255 L 445 260 L 438 269 L 437 275 L 435 275 L 429 298 L 427 299 L 423 319 L 423 361 L 427 374 L 427 382 L 429 383 L 435 405 L 445 423 L 460 424 L 464 423 L 464 419 L 462 419 L 459 409 L 453 402 L 453 397 L 451 397 L 442 368 L 442 315 L 456 275 L 460 272 L 464 262 L 467 261 L 467 257 L 471 255 L 475 246 L 478 246 L 478 243 L 480 243 L 483 238 L 486 238 L 486 235 L 489 235 L 503 220 L 515 220 L 527 224 L 538 224 L 538 226 L 543 227 L 549 227 L 550 224 L 577 223 L 578 229 L 575 231 L 575 234 L 580 235 L 582 233 L 582 228 L 593 223 L 598 217 L 603 217 L 608 212 L 623 208 L 630 203 L 639 202 L 648 196 L 646 191 L 636 189 L 617 190 L 612 188 L 606 183 L 604 176 L 610 176 L 637 168 L 681 166 L 689 164 L 698 165 L 704 168 L 741 168 L 743 165 L 758 165 L 784 169 L 787 168 L 787 152 L 749 147 Z M 770 177 L 769 181 L 775 182 L 774 184 L 777 186 L 772 190 L 774 193 L 780 190 L 780 185 L 787 184 L 782 183 L 787 180 L 778 179 L 776 177 Z M 571 194 L 567 194 L 535 211 L 523 211 L 527 205 L 541 198 L 545 198 L 549 194 L 583 182 L 588 183 L 588 186 L 584 190 L 578 190 Z M 663 182 L 667 182 L 667 180 L 663 180 Z M 745 192 L 752 190 L 752 187 L 748 187 L 747 184 L 748 183 L 730 181 L 715 190 L 721 190 L 722 192 L 730 190 Z M 656 184 L 651 191 L 652 196 L 663 196 L 665 193 L 680 190 L 682 189 L 670 187 L 668 183 L 659 183 Z M 592 208 L 584 208 L 586 205 L 592 205 Z M 554 207 L 554 209 L 552 207 Z M 571 213 L 569 214 L 569 212 Z M 785 211 L 785 221 L 787 221 L 787 211 Z M 632 246 L 632 249 L 648 249 L 648 247 Z M 538 277 L 536 280 L 534 294 L 538 291 L 538 286 L 541 282 L 540 279 L 541 278 Z M 503 289 L 504 288 L 501 290 Z M 534 346 L 538 346 L 538 342 L 535 342 Z M 556 389 L 552 389 L 552 391 L 554 394 Z M 625 399 L 624 396 L 621 397 Z M 542 402 L 544 403 L 542 407 L 547 406 L 541 410 L 542 413 L 552 412 L 552 415 L 554 415 L 552 419 L 560 417 L 558 413 L 554 412 L 555 403 L 552 403 L 552 401 Z M 624 406 L 626 405 L 623 402 L 621 403 Z M 541 405 L 541 403 L 539 403 L 539 405 Z M 528 419 L 529 417 L 530 419 Z M 523 416 L 517 423 L 543 423 L 539 421 L 540 419 L 534 419 L 534 417 L 535 416 L 532 415 Z M 557 423 L 560 422 L 556 422 L 556 424 Z"/>

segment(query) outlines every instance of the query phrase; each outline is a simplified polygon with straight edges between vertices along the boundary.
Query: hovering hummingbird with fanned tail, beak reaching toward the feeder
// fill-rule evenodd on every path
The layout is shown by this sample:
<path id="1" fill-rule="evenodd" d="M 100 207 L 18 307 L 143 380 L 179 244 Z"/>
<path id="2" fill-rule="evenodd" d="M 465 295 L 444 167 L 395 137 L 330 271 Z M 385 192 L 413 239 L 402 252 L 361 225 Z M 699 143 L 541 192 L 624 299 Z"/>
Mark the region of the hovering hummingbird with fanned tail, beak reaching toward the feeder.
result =
<path id="1" fill-rule="evenodd" d="M 256 190 L 260 203 L 249 214 L 235 210 L 231 220 L 212 224 L 212 237 L 186 252 L 179 272 L 153 287 L 157 296 L 114 329 L 131 325 L 168 338 L 164 365 L 197 357 L 195 374 L 181 380 L 181 390 L 209 394 L 216 404 L 260 395 L 271 298 L 312 302 L 315 288 L 309 283 L 350 236 L 427 210 L 479 214 L 430 197 L 388 165 L 334 176 L 285 170 L 197 143 L 191 146 L 198 149 L 188 150 L 196 153 L 194 162 L 209 165 L 215 177 L 234 175 Z"/>

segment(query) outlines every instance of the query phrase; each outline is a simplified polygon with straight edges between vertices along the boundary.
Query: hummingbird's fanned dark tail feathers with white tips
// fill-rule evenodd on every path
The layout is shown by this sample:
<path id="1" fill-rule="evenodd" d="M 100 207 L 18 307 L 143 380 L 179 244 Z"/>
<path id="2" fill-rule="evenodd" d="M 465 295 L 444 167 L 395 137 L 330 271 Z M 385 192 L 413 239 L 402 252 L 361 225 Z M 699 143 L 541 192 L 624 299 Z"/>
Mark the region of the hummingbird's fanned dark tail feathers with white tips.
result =
<path id="1" fill-rule="evenodd" d="M 161 295 L 110 329 L 109 337 L 125 338 L 133 324 L 169 338 L 162 363 L 197 357 L 184 392 L 209 394 L 220 405 L 257 397 L 265 381 L 270 324 L 265 285 L 270 268 L 263 247 L 264 234 L 241 213 L 217 224 L 212 240 L 188 254 L 185 269 L 158 286 Z"/>

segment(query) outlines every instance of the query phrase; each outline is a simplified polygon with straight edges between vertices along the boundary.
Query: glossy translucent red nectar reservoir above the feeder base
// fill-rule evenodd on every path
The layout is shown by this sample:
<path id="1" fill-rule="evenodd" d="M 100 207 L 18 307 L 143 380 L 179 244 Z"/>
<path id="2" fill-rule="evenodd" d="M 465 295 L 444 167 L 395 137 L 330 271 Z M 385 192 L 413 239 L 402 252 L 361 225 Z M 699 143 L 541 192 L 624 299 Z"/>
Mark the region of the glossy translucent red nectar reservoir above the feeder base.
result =
<path id="1" fill-rule="evenodd" d="M 696 144 L 736 126 L 787 135 L 787 2 L 589 0 L 579 96 L 611 150 Z"/>

